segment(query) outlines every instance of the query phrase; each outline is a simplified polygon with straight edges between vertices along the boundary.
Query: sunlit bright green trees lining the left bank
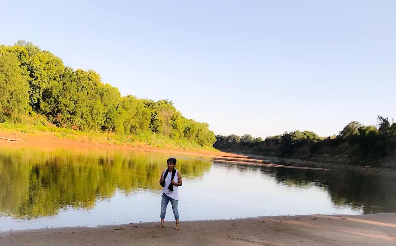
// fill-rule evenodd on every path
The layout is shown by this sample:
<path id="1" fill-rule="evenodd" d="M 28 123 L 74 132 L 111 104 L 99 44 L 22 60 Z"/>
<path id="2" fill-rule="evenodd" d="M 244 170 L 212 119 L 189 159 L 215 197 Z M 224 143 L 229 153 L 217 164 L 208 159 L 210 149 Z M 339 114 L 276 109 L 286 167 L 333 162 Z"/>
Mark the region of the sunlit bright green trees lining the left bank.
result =
<path id="1" fill-rule="evenodd" d="M 183 117 L 172 101 L 121 97 L 95 71 L 64 66 L 51 52 L 19 40 L 0 45 L 0 122 L 29 121 L 81 131 L 157 133 L 201 146 L 216 140 L 207 123 Z"/>

